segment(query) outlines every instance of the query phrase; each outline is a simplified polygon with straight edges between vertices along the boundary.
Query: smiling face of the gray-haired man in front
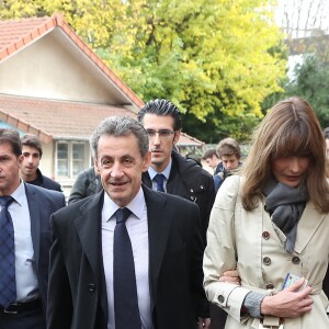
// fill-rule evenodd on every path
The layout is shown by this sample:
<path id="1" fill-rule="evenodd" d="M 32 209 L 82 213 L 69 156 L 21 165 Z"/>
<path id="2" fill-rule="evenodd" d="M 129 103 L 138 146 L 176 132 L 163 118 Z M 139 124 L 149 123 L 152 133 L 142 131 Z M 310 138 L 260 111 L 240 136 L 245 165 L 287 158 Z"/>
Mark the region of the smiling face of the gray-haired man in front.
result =
<path id="1" fill-rule="evenodd" d="M 150 154 L 140 156 L 136 137 L 102 135 L 99 140 L 95 167 L 107 195 L 121 207 L 138 193 L 141 173 L 147 171 Z"/>

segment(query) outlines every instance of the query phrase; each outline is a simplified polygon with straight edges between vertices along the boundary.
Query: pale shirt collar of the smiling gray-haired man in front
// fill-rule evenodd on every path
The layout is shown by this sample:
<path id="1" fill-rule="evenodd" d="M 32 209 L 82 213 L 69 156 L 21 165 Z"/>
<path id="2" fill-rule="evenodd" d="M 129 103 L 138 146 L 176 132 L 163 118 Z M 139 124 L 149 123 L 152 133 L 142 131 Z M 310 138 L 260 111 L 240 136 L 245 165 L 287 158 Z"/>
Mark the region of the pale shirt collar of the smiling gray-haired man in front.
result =
<path id="1" fill-rule="evenodd" d="M 145 207 L 145 196 L 144 191 L 140 186 L 136 196 L 126 205 L 138 219 L 141 218 L 143 209 Z M 106 222 L 115 214 L 115 212 L 120 208 L 120 206 L 107 195 L 104 193 L 104 203 L 103 203 L 103 214 L 105 216 Z"/>

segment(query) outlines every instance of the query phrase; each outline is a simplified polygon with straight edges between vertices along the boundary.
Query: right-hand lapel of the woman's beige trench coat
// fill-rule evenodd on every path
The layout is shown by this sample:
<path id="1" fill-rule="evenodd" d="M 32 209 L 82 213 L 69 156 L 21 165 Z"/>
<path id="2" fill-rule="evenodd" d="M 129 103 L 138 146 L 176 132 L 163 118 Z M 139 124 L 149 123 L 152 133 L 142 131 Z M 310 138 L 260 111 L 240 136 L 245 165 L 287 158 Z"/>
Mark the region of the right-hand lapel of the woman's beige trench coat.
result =
<path id="1" fill-rule="evenodd" d="M 314 203 L 308 202 L 298 223 L 295 251 L 300 253 L 322 224 L 326 214 L 319 216 Z"/>

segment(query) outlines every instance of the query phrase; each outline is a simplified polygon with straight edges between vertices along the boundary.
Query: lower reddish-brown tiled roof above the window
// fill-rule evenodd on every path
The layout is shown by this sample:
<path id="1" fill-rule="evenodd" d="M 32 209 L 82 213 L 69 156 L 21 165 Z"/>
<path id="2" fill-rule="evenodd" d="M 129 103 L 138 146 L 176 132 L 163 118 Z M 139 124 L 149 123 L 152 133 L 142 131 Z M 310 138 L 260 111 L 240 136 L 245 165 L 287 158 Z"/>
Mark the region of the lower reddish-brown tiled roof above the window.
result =
<path id="1" fill-rule="evenodd" d="M 134 112 L 120 106 L 0 94 L 0 121 L 37 135 L 45 143 L 53 138 L 88 139 L 101 121 L 111 115 L 136 117 Z"/>

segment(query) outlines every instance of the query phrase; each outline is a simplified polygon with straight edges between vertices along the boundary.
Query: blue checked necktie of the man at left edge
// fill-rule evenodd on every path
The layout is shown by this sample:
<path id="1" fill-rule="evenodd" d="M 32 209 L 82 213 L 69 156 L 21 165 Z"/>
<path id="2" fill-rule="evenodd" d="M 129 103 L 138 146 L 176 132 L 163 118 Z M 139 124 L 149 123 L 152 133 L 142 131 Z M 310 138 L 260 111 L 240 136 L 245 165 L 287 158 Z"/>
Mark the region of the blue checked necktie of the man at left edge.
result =
<path id="1" fill-rule="evenodd" d="M 16 298 L 14 230 L 8 211 L 12 202 L 11 196 L 0 196 L 0 304 L 4 308 Z"/>

